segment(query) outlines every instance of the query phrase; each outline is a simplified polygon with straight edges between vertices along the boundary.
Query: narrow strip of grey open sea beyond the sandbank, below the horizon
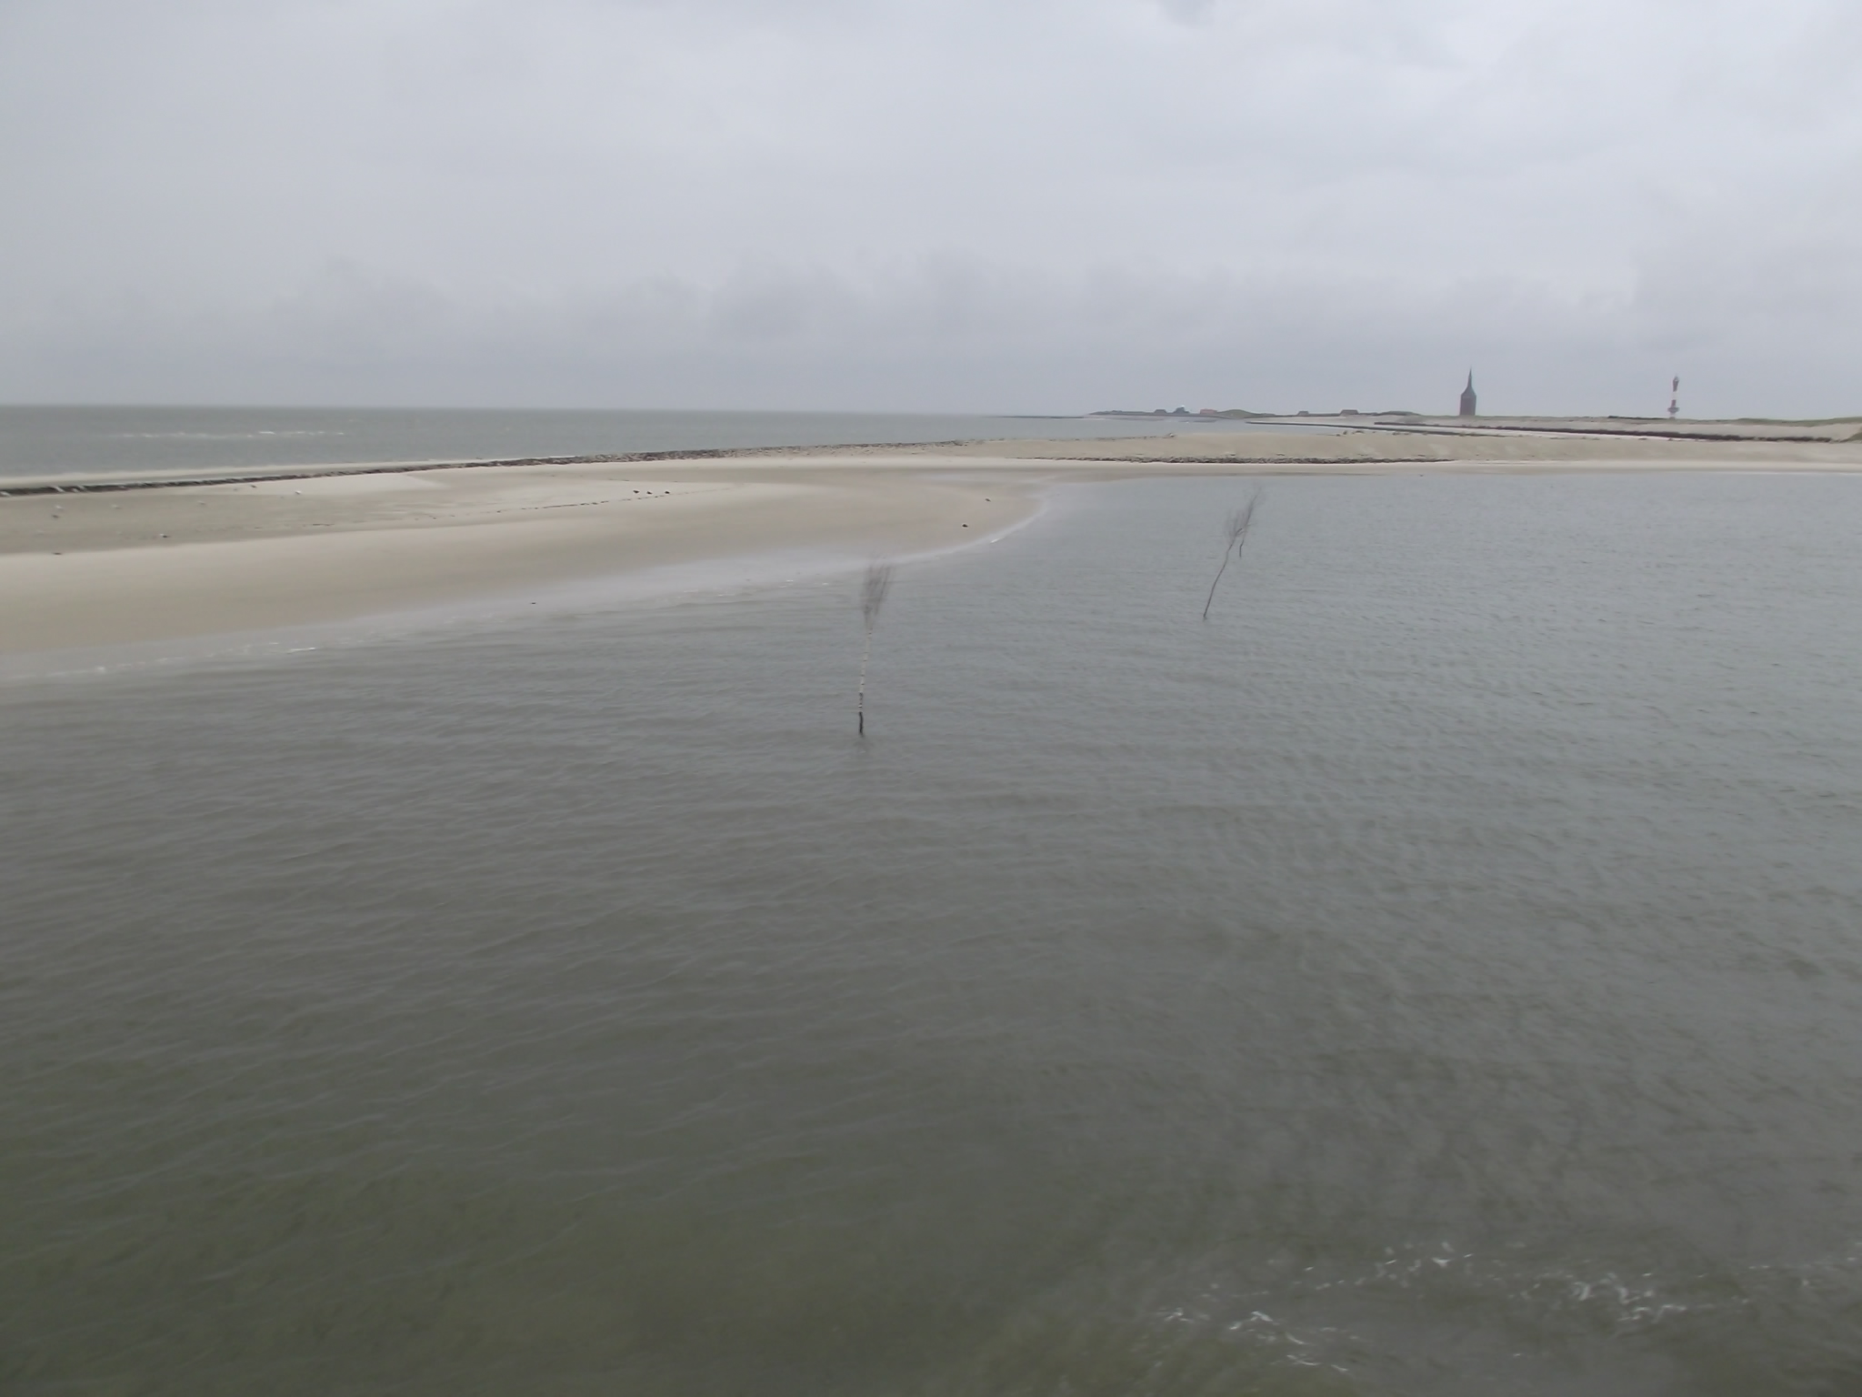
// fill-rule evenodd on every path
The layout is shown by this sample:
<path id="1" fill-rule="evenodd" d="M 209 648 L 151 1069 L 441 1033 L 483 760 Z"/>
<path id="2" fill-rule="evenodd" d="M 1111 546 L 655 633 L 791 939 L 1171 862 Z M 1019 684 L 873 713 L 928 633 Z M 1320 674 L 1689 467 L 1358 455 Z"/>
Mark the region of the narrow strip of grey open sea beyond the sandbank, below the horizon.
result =
<path id="1" fill-rule="evenodd" d="M 235 471 L 350 462 L 508 460 L 635 451 L 994 438 L 1158 436 L 1248 423 L 1197 417 L 959 417 L 855 412 L 464 408 L 56 408 L 0 404 L 0 479 Z M 1279 428 L 1285 430 L 1285 428 Z"/>

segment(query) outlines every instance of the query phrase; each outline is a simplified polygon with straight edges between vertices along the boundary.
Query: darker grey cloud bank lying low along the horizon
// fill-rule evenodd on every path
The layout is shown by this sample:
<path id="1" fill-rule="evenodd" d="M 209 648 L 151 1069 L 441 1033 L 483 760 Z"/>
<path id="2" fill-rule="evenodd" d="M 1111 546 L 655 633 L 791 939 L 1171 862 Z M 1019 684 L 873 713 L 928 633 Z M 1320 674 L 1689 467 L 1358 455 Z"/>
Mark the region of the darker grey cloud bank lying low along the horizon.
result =
<path id="1" fill-rule="evenodd" d="M 0 373 L 58 397 L 84 365 L 93 397 L 130 400 L 186 399 L 210 380 L 253 402 L 1059 412 L 1428 410 L 1467 363 L 1490 406 L 1519 412 L 1659 410 L 1670 371 L 1700 410 L 1741 410 L 1758 389 L 1812 414 L 1819 393 L 1843 391 L 1845 363 L 1801 373 L 1774 359 L 1788 317 L 1726 341 L 1713 313 L 1674 315 L 1670 294 L 1572 296 L 1491 278 L 1393 289 L 1369 276 L 1048 276 L 950 255 L 864 281 L 762 264 L 717 285 L 650 278 L 466 305 L 333 266 L 248 313 L 47 322 L 30 345 L 0 345 Z"/>

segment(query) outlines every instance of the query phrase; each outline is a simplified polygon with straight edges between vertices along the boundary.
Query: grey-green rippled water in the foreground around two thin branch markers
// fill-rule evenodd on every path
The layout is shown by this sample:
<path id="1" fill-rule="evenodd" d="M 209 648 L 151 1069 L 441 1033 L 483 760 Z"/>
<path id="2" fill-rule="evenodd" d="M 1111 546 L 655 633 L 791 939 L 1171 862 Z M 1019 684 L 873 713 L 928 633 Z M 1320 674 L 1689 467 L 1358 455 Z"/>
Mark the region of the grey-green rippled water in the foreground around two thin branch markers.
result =
<path id="1" fill-rule="evenodd" d="M 1248 490 L 0 689 L 0 1390 L 1862 1391 L 1862 479 Z"/>

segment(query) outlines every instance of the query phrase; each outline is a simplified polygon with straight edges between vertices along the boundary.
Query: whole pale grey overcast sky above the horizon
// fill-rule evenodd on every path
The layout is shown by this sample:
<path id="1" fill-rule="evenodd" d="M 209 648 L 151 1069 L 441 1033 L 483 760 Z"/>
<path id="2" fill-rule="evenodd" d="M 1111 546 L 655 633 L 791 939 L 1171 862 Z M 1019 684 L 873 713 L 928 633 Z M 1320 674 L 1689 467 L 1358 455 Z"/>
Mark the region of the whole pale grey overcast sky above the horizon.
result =
<path id="1" fill-rule="evenodd" d="M 1856 0 L 0 0 L 0 400 L 1862 412 Z"/>

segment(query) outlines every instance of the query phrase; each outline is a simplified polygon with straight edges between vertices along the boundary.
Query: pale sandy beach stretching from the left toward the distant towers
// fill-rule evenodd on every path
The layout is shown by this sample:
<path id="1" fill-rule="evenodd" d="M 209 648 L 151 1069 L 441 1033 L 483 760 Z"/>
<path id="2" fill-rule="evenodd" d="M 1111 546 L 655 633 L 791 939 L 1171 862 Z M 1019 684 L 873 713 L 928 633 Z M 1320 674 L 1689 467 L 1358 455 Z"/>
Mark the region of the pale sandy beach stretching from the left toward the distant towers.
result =
<path id="1" fill-rule="evenodd" d="M 1696 425 L 1698 427 L 1698 425 Z M 1197 430 L 672 460 L 322 468 L 210 484 L 9 481 L 0 654 L 350 620 L 708 559 L 983 540 L 1045 486 L 1169 473 L 1862 471 L 1862 443 L 1737 425 Z M 1765 440 L 1765 438 L 1771 440 Z M 108 488 L 99 488 L 108 486 Z"/>

